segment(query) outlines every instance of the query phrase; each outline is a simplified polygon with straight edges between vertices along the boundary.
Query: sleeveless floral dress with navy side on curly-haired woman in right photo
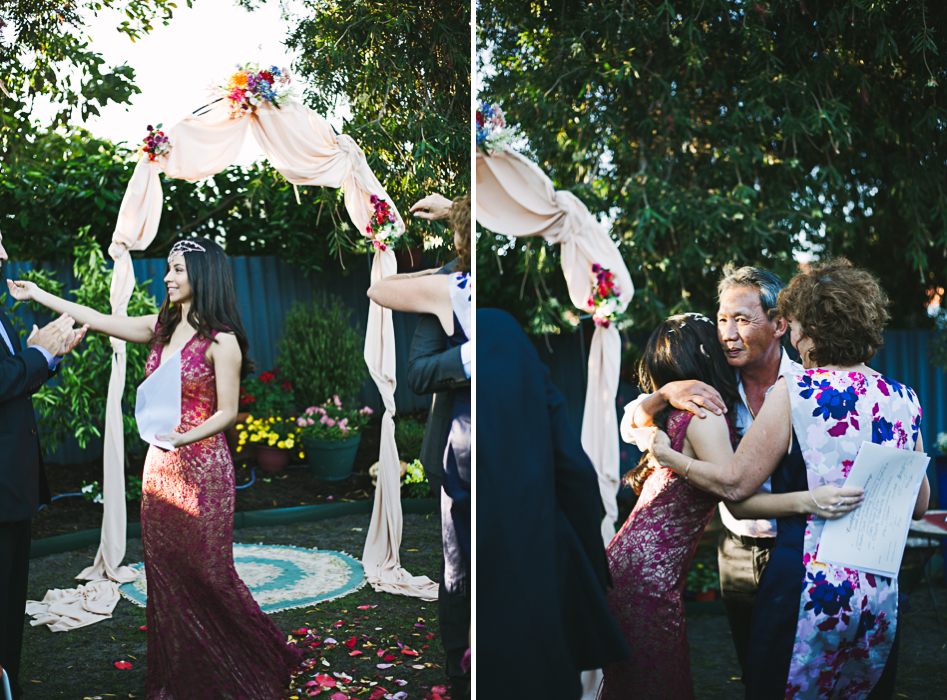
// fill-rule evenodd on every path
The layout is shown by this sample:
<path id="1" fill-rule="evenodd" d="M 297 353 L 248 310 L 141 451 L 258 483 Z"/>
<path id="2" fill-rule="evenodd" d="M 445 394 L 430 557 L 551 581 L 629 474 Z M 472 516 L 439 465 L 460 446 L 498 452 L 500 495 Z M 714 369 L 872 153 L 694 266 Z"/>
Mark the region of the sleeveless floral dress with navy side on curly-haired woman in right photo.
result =
<path id="1" fill-rule="evenodd" d="M 787 375 L 793 446 L 773 493 L 841 486 L 864 441 L 913 450 L 921 409 L 882 375 L 822 369 Z M 898 582 L 819 562 L 825 520 L 778 520 L 753 611 L 748 699 L 890 697 L 897 659 Z"/>

